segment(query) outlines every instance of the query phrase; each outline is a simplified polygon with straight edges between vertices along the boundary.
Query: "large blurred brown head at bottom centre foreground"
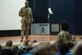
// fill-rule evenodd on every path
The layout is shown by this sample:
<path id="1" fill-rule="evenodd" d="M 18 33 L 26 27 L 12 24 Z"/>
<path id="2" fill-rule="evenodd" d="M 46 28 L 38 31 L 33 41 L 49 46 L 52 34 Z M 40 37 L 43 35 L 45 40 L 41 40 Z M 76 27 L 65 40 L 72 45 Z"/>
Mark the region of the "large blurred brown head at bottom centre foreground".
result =
<path id="1" fill-rule="evenodd" d="M 50 46 L 39 46 L 33 51 L 33 55 L 55 55 Z"/>

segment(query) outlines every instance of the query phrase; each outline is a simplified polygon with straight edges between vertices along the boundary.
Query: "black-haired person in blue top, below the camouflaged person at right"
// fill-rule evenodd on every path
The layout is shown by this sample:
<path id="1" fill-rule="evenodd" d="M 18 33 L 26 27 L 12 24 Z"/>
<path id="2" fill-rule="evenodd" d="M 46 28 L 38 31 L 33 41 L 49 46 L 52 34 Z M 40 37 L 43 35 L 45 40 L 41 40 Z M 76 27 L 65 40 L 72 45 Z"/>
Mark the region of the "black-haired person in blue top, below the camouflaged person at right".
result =
<path id="1" fill-rule="evenodd" d="M 72 51 L 69 49 L 68 44 L 64 43 L 59 46 L 58 55 L 73 55 Z"/>

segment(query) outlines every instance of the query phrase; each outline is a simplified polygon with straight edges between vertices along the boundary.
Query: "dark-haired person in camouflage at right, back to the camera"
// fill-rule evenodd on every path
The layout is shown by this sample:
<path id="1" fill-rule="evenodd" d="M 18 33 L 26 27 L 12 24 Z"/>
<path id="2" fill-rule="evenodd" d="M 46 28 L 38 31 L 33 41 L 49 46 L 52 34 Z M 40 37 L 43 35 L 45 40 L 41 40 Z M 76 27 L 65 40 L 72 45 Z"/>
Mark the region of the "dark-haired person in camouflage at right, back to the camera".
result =
<path id="1" fill-rule="evenodd" d="M 69 28 L 68 22 L 63 21 L 60 24 L 60 33 L 58 34 L 58 38 L 57 38 L 57 43 L 58 44 L 72 42 L 72 36 L 67 31 L 68 28 Z"/>

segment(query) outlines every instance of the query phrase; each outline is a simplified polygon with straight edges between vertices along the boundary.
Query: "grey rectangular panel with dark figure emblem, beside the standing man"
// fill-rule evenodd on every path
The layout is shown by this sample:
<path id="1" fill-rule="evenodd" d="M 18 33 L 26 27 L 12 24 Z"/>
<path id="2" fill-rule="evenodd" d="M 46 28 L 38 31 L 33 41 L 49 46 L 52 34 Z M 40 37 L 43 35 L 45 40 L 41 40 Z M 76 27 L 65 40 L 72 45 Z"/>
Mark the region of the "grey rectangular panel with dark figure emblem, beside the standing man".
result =
<path id="1" fill-rule="evenodd" d="M 50 34 L 50 24 L 33 23 L 31 25 L 31 34 Z"/>

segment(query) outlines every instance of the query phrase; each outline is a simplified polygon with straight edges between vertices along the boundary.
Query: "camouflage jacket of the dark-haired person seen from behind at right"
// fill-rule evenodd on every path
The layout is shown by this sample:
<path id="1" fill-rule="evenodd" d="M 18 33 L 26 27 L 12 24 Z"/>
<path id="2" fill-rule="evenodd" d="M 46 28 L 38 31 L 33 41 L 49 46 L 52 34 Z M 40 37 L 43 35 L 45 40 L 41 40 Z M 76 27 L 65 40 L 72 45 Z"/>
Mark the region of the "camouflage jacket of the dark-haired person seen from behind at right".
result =
<path id="1" fill-rule="evenodd" d="M 67 31 L 61 31 L 58 34 L 58 44 L 62 44 L 62 43 L 68 43 L 68 42 L 72 42 L 72 36 L 69 32 Z"/>

